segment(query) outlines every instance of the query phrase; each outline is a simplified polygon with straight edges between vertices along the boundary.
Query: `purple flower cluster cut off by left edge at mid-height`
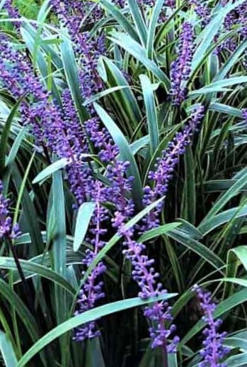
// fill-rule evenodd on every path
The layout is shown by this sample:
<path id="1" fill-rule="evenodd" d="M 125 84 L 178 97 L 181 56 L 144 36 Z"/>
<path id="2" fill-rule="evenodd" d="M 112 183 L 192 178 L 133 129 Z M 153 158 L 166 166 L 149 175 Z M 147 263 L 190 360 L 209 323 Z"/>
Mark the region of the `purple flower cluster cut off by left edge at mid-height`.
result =
<path id="1" fill-rule="evenodd" d="M 16 239 L 21 231 L 18 224 L 13 224 L 9 215 L 10 200 L 2 194 L 3 183 L 0 181 L 0 241 L 2 239 Z"/>

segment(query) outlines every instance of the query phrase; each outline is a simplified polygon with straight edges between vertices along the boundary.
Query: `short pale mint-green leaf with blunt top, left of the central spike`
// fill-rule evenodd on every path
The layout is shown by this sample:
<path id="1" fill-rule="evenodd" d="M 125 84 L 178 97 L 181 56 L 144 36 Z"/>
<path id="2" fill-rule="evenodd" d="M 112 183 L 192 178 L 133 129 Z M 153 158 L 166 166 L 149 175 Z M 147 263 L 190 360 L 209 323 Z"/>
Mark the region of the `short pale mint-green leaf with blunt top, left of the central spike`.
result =
<path id="1" fill-rule="evenodd" d="M 79 207 L 76 218 L 76 229 L 74 231 L 74 251 L 78 251 L 82 241 L 84 241 L 95 207 L 95 202 L 84 202 L 84 204 L 81 204 L 81 207 Z"/>

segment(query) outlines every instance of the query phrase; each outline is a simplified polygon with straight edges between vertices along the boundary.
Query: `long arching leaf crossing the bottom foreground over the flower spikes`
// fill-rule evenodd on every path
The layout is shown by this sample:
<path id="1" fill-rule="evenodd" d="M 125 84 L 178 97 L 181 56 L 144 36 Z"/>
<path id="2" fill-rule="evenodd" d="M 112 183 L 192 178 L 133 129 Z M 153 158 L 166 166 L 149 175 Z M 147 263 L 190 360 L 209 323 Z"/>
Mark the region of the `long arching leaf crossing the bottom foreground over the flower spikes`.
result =
<path id="1" fill-rule="evenodd" d="M 113 314 L 115 312 L 120 312 L 122 310 L 128 310 L 132 307 L 139 307 L 147 305 L 152 302 L 159 300 L 168 300 L 171 297 L 175 297 L 176 293 L 163 294 L 158 297 L 150 297 L 148 300 L 141 300 L 139 297 L 130 298 L 128 300 L 122 300 L 117 302 L 108 303 L 108 305 L 103 305 L 96 307 L 93 310 L 89 310 L 79 314 L 78 316 L 71 317 L 71 319 L 63 322 L 58 327 L 55 327 L 50 332 L 42 336 L 37 343 L 35 343 L 18 361 L 17 367 L 25 367 L 35 354 L 41 351 L 45 346 L 50 344 L 54 339 L 57 339 L 62 334 L 69 332 L 70 330 L 79 327 L 81 324 L 86 322 L 91 322 L 93 320 L 99 319 L 105 315 Z"/>

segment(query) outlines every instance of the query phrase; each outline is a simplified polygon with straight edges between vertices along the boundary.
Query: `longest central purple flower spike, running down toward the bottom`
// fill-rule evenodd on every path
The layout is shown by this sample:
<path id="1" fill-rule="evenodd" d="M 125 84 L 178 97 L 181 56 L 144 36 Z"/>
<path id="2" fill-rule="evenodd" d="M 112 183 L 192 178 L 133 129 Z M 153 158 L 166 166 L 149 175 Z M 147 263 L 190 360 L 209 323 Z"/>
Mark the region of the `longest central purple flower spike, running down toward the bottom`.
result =
<path id="1" fill-rule="evenodd" d="M 147 299 L 166 293 L 161 283 L 156 282 L 159 273 L 156 273 L 153 268 L 154 260 L 144 254 L 146 246 L 134 241 L 134 229 L 125 229 L 126 221 L 134 212 L 132 199 L 126 195 L 126 192 L 131 191 L 132 181 L 132 177 L 127 177 L 126 174 L 129 163 L 117 160 L 119 153 L 117 146 L 113 143 L 108 131 L 100 127 L 96 119 L 89 123 L 87 121 L 86 130 L 94 146 L 98 148 L 98 156 L 106 164 L 106 177 L 111 185 L 105 189 L 105 199 L 108 197 L 110 202 L 115 204 L 113 227 L 125 238 L 123 254 L 132 262 L 132 276 L 140 287 L 139 297 Z M 174 352 L 179 339 L 178 336 L 174 336 L 171 344 L 167 345 L 167 339 L 176 330 L 174 325 L 171 325 L 169 329 L 165 327 L 165 322 L 172 319 L 171 307 L 168 307 L 167 302 L 155 302 L 154 305 L 146 307 L 144 315 L 152 324 L 149 328 L 152 347 L 163 346 L 166 352 Z"/>

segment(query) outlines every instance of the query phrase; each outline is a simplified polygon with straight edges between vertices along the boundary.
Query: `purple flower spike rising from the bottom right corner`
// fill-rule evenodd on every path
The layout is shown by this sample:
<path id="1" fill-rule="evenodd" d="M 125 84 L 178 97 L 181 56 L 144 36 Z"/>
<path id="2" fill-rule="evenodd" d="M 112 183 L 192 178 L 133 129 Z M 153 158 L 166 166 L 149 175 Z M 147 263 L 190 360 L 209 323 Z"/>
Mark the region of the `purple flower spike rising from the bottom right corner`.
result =
<path id="1" fill-rule="evenodd" d="M 202 319 L 207 323 L 207 328 L 203 331 L 205 340 L 203 341 L 204 348 L 200 351 L 202 362 L 199 366 L 226 367 L 226 363 L 221 363 L 222 358 L 229 353 L 229 348 L 223 345 L 226 332 L 219 332 L 219 327 L 222 325 L 222 319 L 214 320 L 213 314 L 216 305 L 212 302 L 212 294 L 203 291 L 198 285 L 194 285 L 193 290 L 200 299 L 200 306 L 205 315 Z"/>

